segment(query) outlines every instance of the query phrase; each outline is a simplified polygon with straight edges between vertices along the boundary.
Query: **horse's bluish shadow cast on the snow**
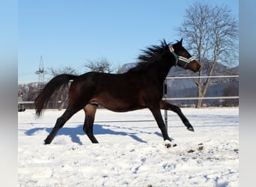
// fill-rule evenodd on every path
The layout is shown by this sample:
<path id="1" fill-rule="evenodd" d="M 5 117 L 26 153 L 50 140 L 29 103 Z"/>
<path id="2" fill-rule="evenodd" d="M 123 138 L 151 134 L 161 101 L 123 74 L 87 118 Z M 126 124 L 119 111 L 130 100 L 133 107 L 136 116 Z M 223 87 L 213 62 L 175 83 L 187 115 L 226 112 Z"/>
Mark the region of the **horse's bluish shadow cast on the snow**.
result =
<path id="1" fill-rule="evenodd" d="M 108 126 L 108 125 L 105 125 Z M 82 145 L 82 141 L 80 140 L 78 135 L 85 135 L 85 132 L 82 129 L 83 125 L 79 125 L 76 127 L 63 127 L 61 128 L 57 135 L 69 135 L 71 138 L 71 141 L 73 141 L 74 143 L 80 144 Z M 159 135 L 162 137 L 162 135 L 159 132 L 120 132 L 120 131 L 114 131 L 112 129 L 105 129 L 103 128 L 104 125 L 99 125 L 99 124 L 94 124 L 94 135 L 125 135 L 125 136 L 129 136 L 132 139 L 134 139 L 135 141 L 138 142 L 142 142 L 142 143 L 147 143 L 147 141 L 142 140 L 141 138 L 138 137 L 138 133 L 146 133 L 146 134 L 155 134 L 155 135 Z M 121 129 L 120 126 L 115 126 Z M 123 128 L 122 128 L 123 129 Z M 124 128 L 127 129 L 127 128 Z M 34 135 L 35 132 L 37 131 L 41 131 L 41 130 L 46 130 L 46 132 L 50 133 L 52 131 L 52 128 L 34 128 L 34 129 L 29 129 L 25 132 L 25 135 Z"/>

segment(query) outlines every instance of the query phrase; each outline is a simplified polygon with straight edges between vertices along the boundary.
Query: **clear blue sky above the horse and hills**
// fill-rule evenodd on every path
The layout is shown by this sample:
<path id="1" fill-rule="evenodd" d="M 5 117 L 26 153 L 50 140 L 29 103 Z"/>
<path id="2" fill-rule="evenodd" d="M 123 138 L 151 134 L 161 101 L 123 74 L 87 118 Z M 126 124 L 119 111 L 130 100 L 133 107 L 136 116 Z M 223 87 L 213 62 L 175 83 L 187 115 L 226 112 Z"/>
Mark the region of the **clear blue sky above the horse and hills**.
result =
<path id="1" fill-rule="evenodd" d="M 19 1 L 18 82 L 37 81 L 40 56 L 50 68 L 85 73 L 88 61 L 106 58 L 112 67 L 135 62 L 141 49 L 180 40 L 175 28 L 192 0 Z M 216 0 L 239 16 L 238 0 Z M 184 38 L 183 40 L 186 40 Z M 47 76 L 48 75 L 48 76 Z M 46 73 L 46 81 L 49 73 Z"/>

